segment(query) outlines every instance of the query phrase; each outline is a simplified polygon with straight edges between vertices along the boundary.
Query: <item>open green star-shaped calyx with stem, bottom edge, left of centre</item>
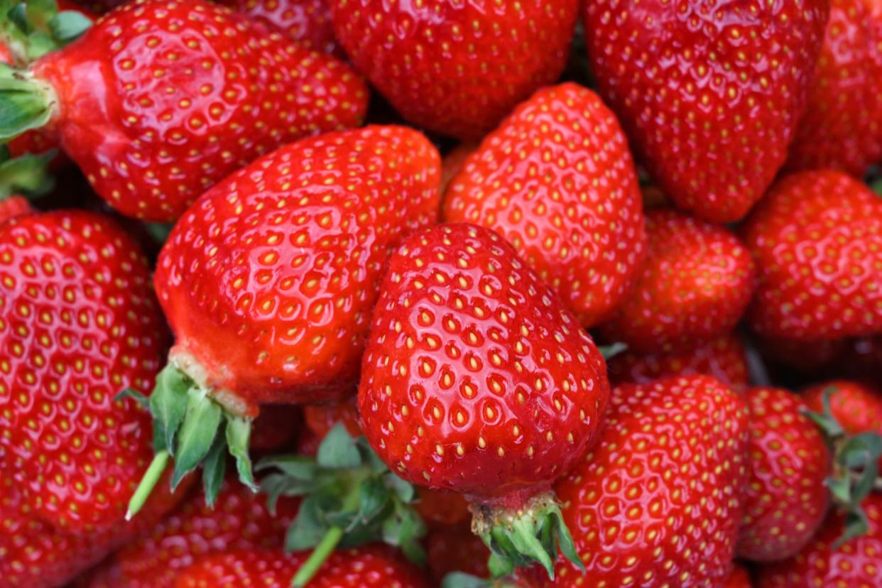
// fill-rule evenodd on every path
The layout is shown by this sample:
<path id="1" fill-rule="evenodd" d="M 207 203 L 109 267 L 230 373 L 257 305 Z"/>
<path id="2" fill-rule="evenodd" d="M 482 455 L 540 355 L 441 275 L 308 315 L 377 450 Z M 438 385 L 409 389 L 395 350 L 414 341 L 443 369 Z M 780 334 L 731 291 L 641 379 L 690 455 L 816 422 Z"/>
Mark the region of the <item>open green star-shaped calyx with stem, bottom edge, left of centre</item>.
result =
<path id="1" fill-rule="evenodd" d="M 334 427 L 315 458 L 267 458 L 258 470 L 273 470 L 261 480 L 271 510 L 280 496 L 303 498 L 288 528 L 288 551 L 312 549 L 292 586 L 309 583 L 336 547 L 383 541 L 414 562 L 424 562 L 419 540 L 426 529 L 412 504 L 416 490 L 392 473 L 363 437 L 352 438 L 343 425 Z"/>

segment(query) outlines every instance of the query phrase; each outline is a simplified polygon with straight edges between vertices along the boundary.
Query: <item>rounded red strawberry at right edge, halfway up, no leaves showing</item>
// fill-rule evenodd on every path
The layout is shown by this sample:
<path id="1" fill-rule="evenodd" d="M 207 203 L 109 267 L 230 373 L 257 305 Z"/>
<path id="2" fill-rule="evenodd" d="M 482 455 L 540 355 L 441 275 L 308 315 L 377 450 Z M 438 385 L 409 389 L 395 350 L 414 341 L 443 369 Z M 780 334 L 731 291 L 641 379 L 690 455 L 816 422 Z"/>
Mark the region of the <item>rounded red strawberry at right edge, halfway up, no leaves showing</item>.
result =
<path id="1" fill-rule="evenodd" d="M 882 331 L 882 199 L 833 171 L 778 182 L 742 227 L 760 335 L 830 340 Z"/>

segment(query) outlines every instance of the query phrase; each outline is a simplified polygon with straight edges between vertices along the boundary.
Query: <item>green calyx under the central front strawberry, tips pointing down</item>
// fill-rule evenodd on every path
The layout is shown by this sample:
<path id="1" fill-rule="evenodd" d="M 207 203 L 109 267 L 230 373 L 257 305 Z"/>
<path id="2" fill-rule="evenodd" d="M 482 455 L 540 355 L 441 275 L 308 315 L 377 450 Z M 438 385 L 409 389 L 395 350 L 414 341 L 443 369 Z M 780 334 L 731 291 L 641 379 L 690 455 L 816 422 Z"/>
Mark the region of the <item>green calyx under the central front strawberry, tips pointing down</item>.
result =
<path id="1" fill-rule="evenodd" d="M 585 573 L 553 492 L 534 496 L 517 510 L 473 506 L 472 515 L 472 529 L 490 548 L 488 567 L 493 577 L 538 562 L 554 579 L 558 550 Z"/>

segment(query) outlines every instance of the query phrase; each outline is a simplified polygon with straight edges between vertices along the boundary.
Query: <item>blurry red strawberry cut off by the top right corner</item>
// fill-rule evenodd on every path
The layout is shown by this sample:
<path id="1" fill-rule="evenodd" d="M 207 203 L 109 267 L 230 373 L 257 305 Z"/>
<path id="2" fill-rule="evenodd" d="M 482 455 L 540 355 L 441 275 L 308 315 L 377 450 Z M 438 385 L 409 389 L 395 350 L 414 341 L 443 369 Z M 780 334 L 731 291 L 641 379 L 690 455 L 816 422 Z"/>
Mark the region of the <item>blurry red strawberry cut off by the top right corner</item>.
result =
<path id="1" fill-rule="evenodd" d="M 831 0 L 808 104 L 790 147 L 792 169 L 862 178 L 882 160 L 882 2 Z"/>

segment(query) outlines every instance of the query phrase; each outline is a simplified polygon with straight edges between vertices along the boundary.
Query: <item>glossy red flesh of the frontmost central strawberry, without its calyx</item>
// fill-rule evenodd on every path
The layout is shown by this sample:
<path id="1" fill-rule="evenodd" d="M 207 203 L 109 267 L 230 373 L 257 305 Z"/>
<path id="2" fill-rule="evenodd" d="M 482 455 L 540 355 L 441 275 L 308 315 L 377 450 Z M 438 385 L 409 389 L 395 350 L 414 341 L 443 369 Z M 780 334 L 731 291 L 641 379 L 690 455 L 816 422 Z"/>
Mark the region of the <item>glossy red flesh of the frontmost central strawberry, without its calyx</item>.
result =
<path id="1" fill-rule="evenodd" d="M 608 395 L 594 341 L 496 233 L 430 227 L 390 258 L 358 406 L 401 477 L 519 504 L 587 450 Z"/>

